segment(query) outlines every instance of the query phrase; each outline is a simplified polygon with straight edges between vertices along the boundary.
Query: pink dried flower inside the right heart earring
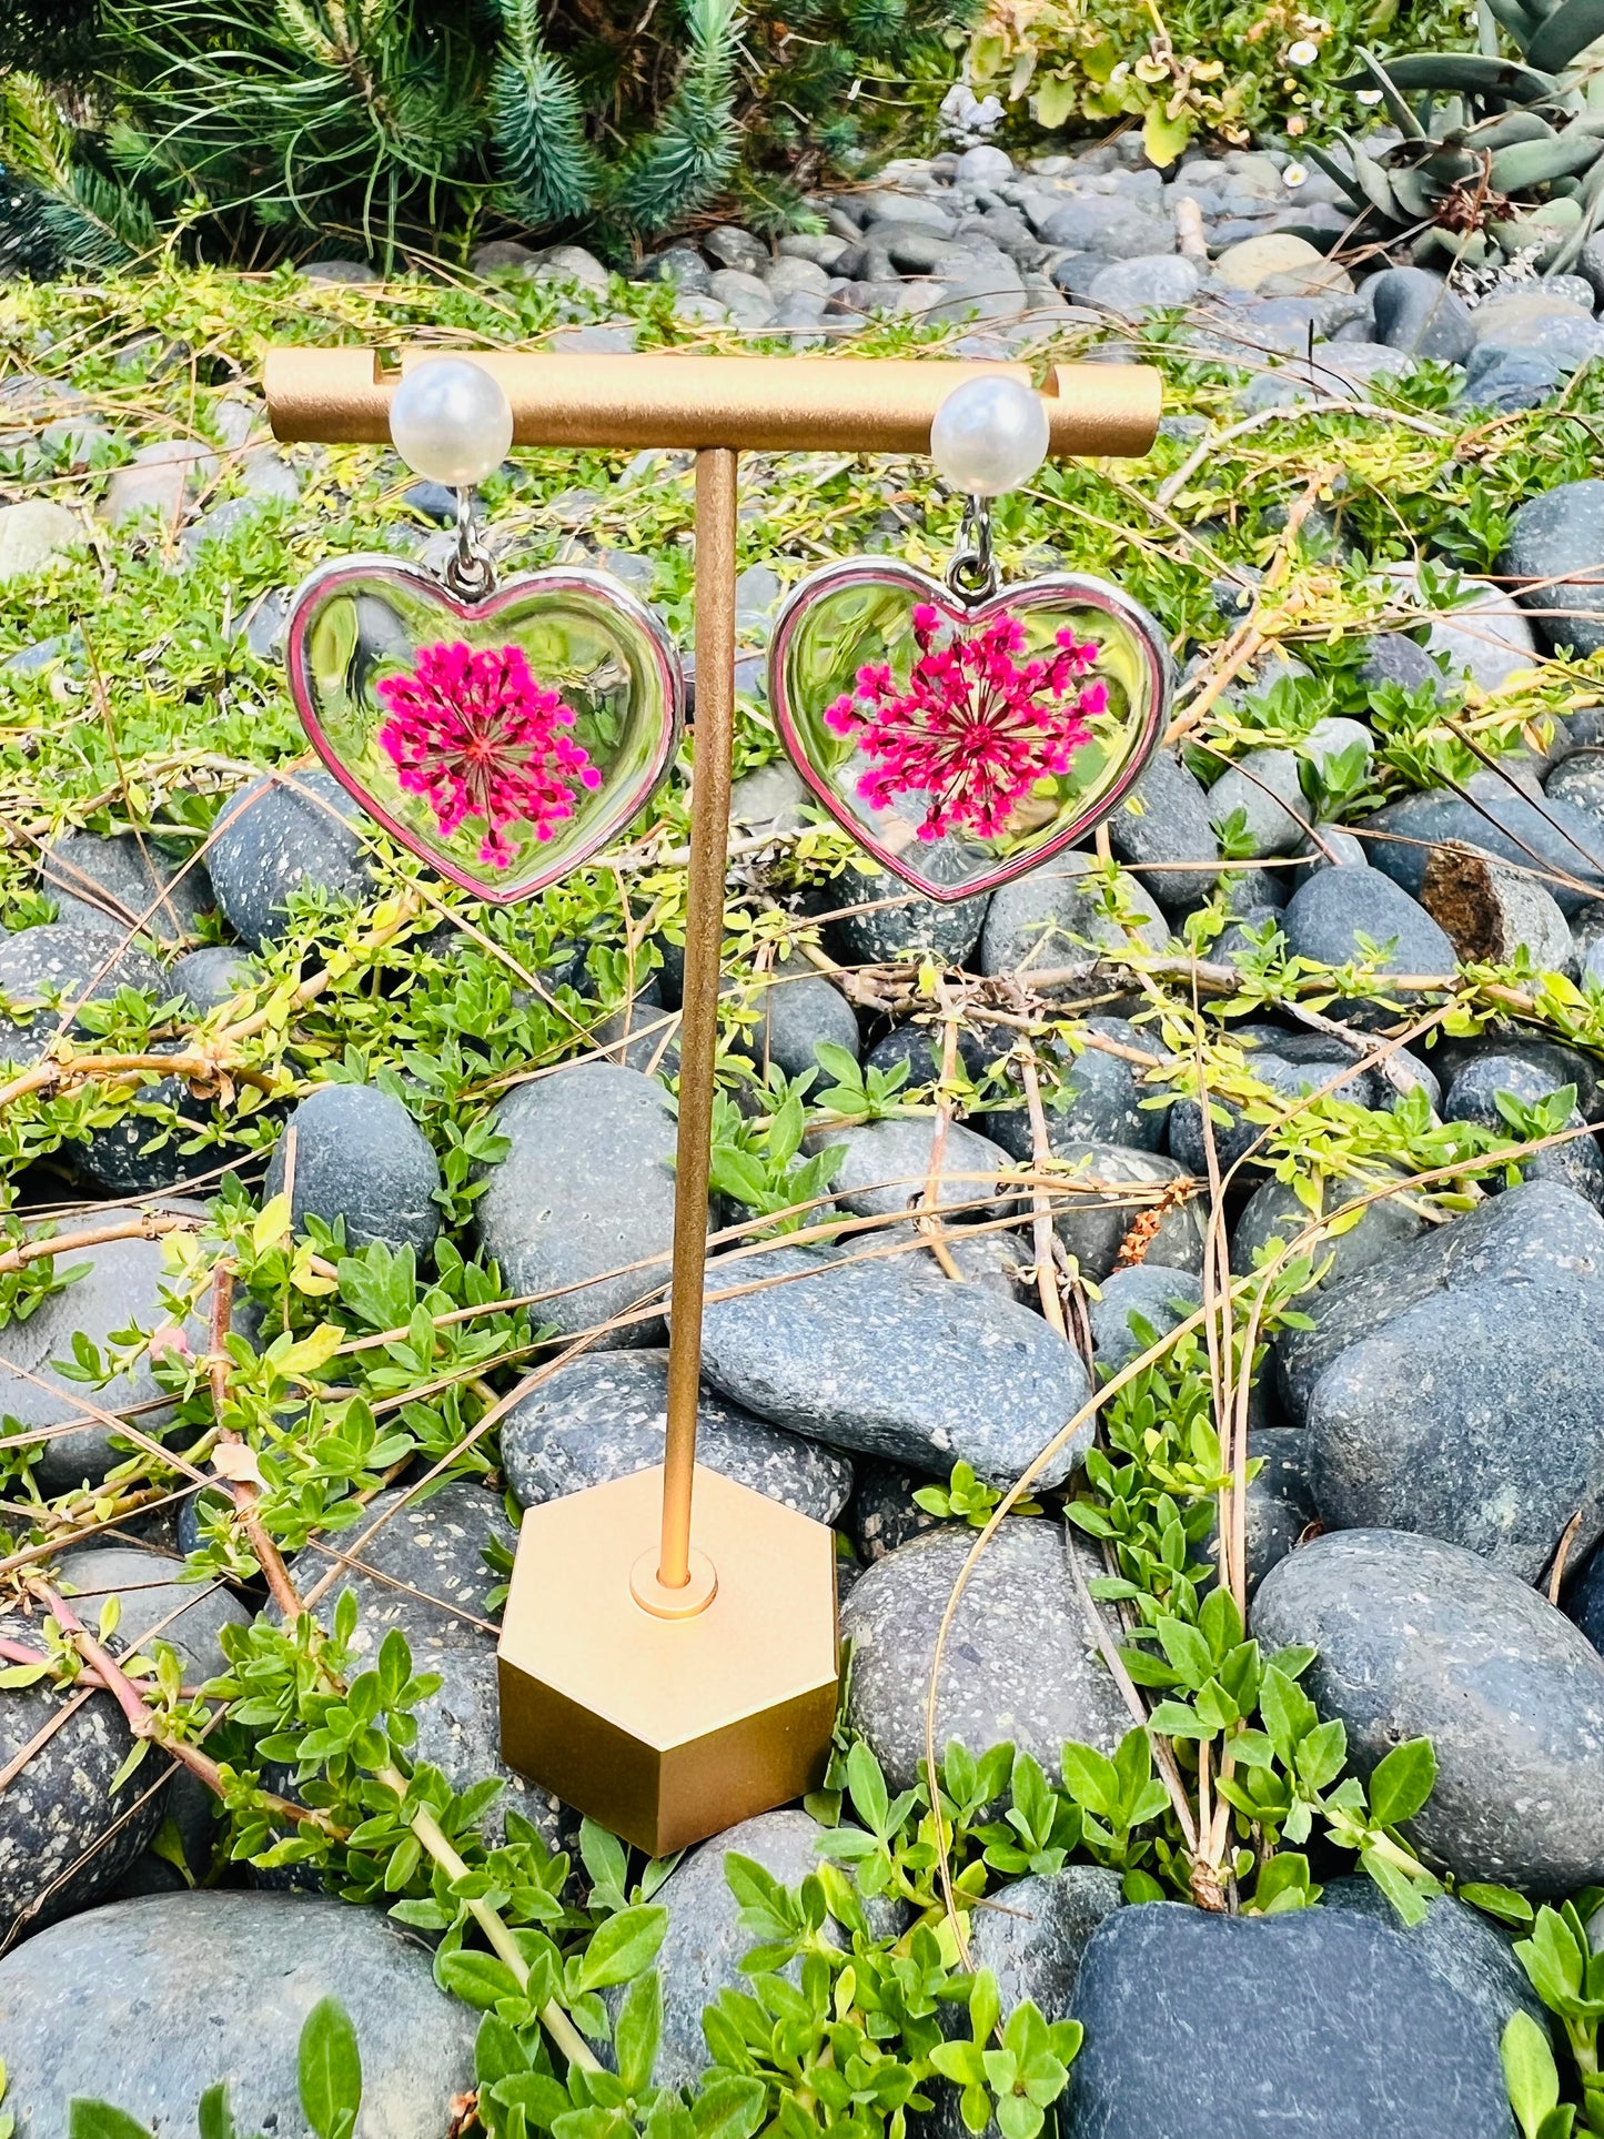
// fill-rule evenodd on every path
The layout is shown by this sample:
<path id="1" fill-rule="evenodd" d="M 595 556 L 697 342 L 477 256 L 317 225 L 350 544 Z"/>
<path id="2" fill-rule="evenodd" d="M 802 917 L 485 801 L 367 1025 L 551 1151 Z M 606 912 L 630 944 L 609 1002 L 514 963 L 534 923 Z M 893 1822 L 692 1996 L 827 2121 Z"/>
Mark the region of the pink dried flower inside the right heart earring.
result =
<path id="1" fill-rule="evenodd" d="M 890 667 L 864 663 L 851 691 L 826 708 L 838 736 L 877 759 L 858 781 L 870 809 L 900 794 L 930 798 L 920 838 L 941 838 L 969 826 L 994 838 L 1016 802 L 1091 742 L 1089 721 L 1108 708 L 1106 682 L 1082 682 L 1097 646 L 1067 627 L 1059 650 L 1033 661 L 1016 616 L 994 616 L 980 631 L 954 631 L 937 646 L 941 616 L 928 603 L 913 612 L 920 657 L 898 687 Z"/>

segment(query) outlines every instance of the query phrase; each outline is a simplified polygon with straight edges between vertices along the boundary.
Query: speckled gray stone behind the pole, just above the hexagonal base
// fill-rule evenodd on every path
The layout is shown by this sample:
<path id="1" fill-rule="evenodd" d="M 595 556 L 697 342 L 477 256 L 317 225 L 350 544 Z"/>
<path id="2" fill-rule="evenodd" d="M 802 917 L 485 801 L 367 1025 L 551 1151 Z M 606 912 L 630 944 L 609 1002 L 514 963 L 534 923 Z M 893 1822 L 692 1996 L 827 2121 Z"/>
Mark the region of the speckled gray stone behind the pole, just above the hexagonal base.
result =
<path id="1" fill-rule="evenodd" d="M 663 1461 L 667 1352 L 580 1354 L 511 1407 L 500 1463 L 520 1508 L 629 1478 Z M 697 1403 L 697 1463 L 755 1493 L 834 1523 L 851 1493 L 851 1463 L 783 1433 L 712 1390 Z"/>

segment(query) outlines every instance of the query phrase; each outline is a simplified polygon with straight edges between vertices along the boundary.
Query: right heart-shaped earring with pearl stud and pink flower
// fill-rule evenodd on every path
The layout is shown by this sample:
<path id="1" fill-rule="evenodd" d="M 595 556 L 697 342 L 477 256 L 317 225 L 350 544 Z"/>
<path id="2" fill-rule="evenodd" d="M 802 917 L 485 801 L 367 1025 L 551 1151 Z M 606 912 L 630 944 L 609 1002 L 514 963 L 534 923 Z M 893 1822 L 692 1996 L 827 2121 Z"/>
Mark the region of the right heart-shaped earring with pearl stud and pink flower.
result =
<path id="1" fill-rule="evenodd" d="M 1170 657 L 1116 586 L 999 588 L 990 501 L 1042 466 L 1042 400 L 1007 374 L 956 387 L 930 453 L 967 494 L 947 584 L 898 560 L 826 565 L 774 625 L 768 702 L 830 815 L 928 898 L 988 892 L 1080 838 L 1163 736 Z"/>

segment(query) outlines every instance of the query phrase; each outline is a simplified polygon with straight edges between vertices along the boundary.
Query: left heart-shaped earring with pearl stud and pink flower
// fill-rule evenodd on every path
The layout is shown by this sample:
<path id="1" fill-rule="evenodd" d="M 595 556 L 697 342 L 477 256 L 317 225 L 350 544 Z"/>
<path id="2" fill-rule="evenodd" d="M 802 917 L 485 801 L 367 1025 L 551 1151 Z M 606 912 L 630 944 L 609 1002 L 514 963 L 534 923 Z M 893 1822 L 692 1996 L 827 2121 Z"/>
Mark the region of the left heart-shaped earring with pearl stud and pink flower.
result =
<path id="1" fill-rule="evenodd" d="M 674 764 L 684 676 L 629 588 L 558 567 L 496 586 L 473 486 L 500 464 L 513 417 L 477 364 L 436 357 L 391 400 L 391 438 L 458 492 L 443 580 L 349 556 L 299 586 L 289 689 L 340 785 L 404 847 L 507 905 L 599 853 Z"/>

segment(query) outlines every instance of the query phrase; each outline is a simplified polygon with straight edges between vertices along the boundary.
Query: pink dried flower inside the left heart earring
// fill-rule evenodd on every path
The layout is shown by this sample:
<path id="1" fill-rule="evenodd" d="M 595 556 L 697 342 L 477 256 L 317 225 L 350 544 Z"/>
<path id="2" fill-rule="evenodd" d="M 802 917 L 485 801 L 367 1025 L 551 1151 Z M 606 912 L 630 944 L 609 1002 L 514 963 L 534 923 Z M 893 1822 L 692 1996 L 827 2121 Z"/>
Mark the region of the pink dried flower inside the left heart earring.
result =
<path id="1" fill-rule="evenodd" d="M 483 817 L 479 860 L 496 868 L 513 858 L 505 826 L 550 838 L 573 815 L 573 783 L 601 785 L 565 734 L 573 710 L 539 682 L 522 646 L 419 646 L 413 674 L 385 676 L 379 697 L 389 714 L 379 740 L 402 787 L 428 798 L 441 832 Z"/>

